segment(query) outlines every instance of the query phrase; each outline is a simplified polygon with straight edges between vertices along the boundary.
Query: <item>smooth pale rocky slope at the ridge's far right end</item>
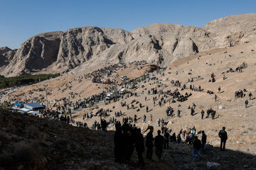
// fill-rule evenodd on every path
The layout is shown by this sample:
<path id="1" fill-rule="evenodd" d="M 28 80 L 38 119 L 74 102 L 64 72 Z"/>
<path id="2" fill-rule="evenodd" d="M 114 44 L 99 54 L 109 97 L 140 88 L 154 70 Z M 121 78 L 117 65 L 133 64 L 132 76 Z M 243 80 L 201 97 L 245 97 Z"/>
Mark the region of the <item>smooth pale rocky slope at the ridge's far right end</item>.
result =
<path id="1" fill-rule="evenodd" d="M 256 13 L 215 19 L 202 27 L 216 41 L 216 47 L 232 47 L 256 38 Z"/>

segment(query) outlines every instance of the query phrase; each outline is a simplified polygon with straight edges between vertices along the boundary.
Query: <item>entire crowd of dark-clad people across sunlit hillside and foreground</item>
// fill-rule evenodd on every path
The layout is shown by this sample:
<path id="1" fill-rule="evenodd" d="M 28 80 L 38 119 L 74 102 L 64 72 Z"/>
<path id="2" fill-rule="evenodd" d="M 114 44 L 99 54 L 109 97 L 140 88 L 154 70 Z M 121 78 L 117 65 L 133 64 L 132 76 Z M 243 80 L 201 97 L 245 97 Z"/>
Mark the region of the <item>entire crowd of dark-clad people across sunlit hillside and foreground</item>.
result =
<path id="1" fill-rule="evenodd" d="M 146 62 L 134 62 L 137 64 L 138 69 L 146 64 Z M 107 76 L 107 78 L 110 78 L 109 81 L 105 81 L 105 84 L 111 84 L 111 86 L 105 87 L 105 90 L 107 92 L 114 92 L 120 87 L 128 87 L 133 84 L 134 81 L 137 81 L 137 79 L 129 79 L 127 81 L 122 81 L 121 83 L 117 83 L 117 81 L 114 80 L 113 74 L 117 72 L 118 69 L 127 67 L 127 64 L 114 64 L 109 67 L 104 67 L 102 69 L 97 69 L 95 72 L 92 72 L 90 74 L 84 75 L 84 77 L 78 77 L 78 79 L 75 79 L 74 81 L 78 81 L 78 83 L 82 82 L 82 79 L 92 79 L 93 83 L 101 83 L 102 77 Z M 236 69 L 237 72 L 242 72 L 242 69 L 245 69 L 245 64 L 241 67 L 238 67 Z M 233 72 L 233 69 L 230 69 Z M 230 71 L 230 72 L 231 72 Z M 196 79 L 196 78 L 195 78 Z M 52 106 L 52 108 L 48 109 L 48 111 L 42 111 L 42 118 L 50 118 L 55 120 L 60 120 L 63 123 L 68 123 L 72 125 L 76 125 L 78 127 L 85 127 L 88 128 L 87 120 L 90 120 L 92 122 L 92 125 L 90 125 L 90 130 L 103 130 L 106 131 L 109 126 L 115 126 L 116 132 L 114 134 L 114 157 L 116 159 L 116 162 L 119 163 L 125 163 L 129 162 L 131 160 L 132 154 L 134 153 L 134 150 L 137 151 L 137 156 L 139 159 L 139 164 L 141 166 L 144 166 L 144 158 L 143 153 L 146 150 L 146 158 L 152 159 L 153 150 L 156 153 L 156 157 L 158 157 L 159 160 L 161 160 L 162 153 L 164 149 L 169 149 L 170 143 L 186 143 L 188 145 L 193 145 L 193 160 L 197 160 L 198 157 L 202 157 L 202 153 L 204 154 L 206 152 L 204 146 L 206 145 L 207 136 L 204 131 L 196 131 L 196 128 L 191 128 L 190 130 L 181 130 L 176 135 L 176 132 L 172 132 L 172 130 L 169 130 L 166 128 L 166 125 L 169 123 L 167 120 L 169 118 L 174 118 L 175 113 L 178 118 L 181 118 L 181 114 L 186 113 L 186 109 L 183 111 L 181 108 L 181 104 L 183 102 L 190 100 L 192 93 L 203 93 L 203 89 L 201 86 L 195 86 L 192 83 L 194 82 L 193 78 L 189 78 L 188 82 L 191 84 L 185 84 L 184 82 L 180 80 L 168 80 L 168 85 L 171 84 L 171 89 L 164 91 L 164 88 L 161 88 L 164 86 L 162 83 L 162 80 L 157 77 L 148 77 L 146 80 L 144 80 L 144 83 L 149 82 L 149 85 L 156 84 L 155 87 L 150 87 L 149 89 L 146 89 L 144 84 L 142 86 L 139 86 L 141 88 L 141 92 L 127 92 L 122 95 L 118 95 L 116 98 L 110 98 L 106 99 L 105 93 L 95 94 L 87 98 L 79 99 L 78 101 L 75 101 L 75 98 L 79 96 L 78 93 L 75 93 L 74 91 L 71 91 L 69 93 L 69 96 L 60 98 L 59 100 L 55 100 L 55 104 Z M 223 77 L 223 80 L 224 77 Z M 210 80 L 209 82 L 215 82 L 216 81 L 216 75 L 214 73 L 210 74 Z M 188 85 L 188 87 L 187 87 Z M 64 89 L 59 89 L 59 91 L 66 91 L 71 90 L 73 88 L 72 81 L 67 83 L 64 87 Z M 190 90 L 187 91 L 186 89 Z M 33 94 L 35 91 L 44 91 L 43 88 L 33 89 L 30 91 L 31 94 Z M 145 94 L 144 94 L 145 91 Z M 197 92 L 198 91 L 198 92 Z M 192 93 L 191 93 L 192 92 Z M 244 90 L 235 91 L 235 98 L 243 98 L 245 97 Z M 206 93 L 208 94 L 214 94 L 213 91 L 208 90 Z M 220 87 L 218 88 L 218 93 L 220 93 Z M 48 95 L 51 94 L 51 91 L 48 91 Z M 147 94 L 147 96 L 146 96 Z M 24 95 L 24 94 L 22 94 Z M 142 104 L 144 101 L 139 101 L 139 99 L 130 100 L 128 102 L 129 98 L 132 96 L 143 96 L 144 101 L 150 100 L 152 102 L 151 106 L 146 106 L 147 104 Z M 18 96 L 17 96 L 18 97 Z M 250 100 L 252 99 L 252 93 L 249 94 Z M 215 95 L 215 101 L 217 101 L 218 96 Z M 33 98 L 35 99 L 35 98 Z M 43 95 L 40 95 L 36 98 L 38 101 L 44 101 L 45 98 Z M 129 115 L 124 115 L 124 109 L 117 110 L 115 109 L 115 106 L 112 106 L 112 108 L 92 108 L 92 106 L 96 106 L 97 103 L 100 103 L 100 101 L 104 101 L 105 105 L 109 105 L 110 103 L 117 103 L 117 101 L 120 101 L 120 106 L 125 108 L 125 112 L 133 112 Z M 169 102 L 169 106 L 168 106 Z M 174 107 L 171 106 L 171 103 L 178 102 L 178 109 L 174 111 Z M 248 107 L 248 101 L 245 101 L 245 108 Z M 117 104 L 117 106 L 119 103 Z M 167 105 L 167 106 L 166 106 Z M 153 107 L 154 106 L 154 107 Z M 149 109 L 150 107 L 150 109 Z M 153 113 L 151 111 L 153 109 L 159 109 L 164 107 L 164 111 L 166 111 L 166 115 L 169 117 L 167 120 L 164 120 L 164 118 L 159 118 L 159 115 L 154 115 L 154 120 L 157 121 L 155 127 L 160 128 L 161 130 L 157 130 L 157 135 L 154 137 L 153 132 L 154 128 L 149 127 L 149 132 L 147 133 L 145 139 L 143 132 L 141 132 L 141 129 L 137 127 L 138 119 L 137 114 L 134 113 L 140 113 L 142 116 L 142 120 L 140 120 L 140 123 L 147 123 L 146 118 L 150 118 L 150 123 L 153 123 Z M 73 108 L 73 111 L 81 111 L 84 108 L 92 108 L 89 113 L 84 113 L 82 115 L 81 121 L 75 121 L 72 116 L 71 108 Z M 127 110 L 126 110 L 127 108 Z M 205 108 L 204 108 L 205 109 Z M 113 110 L 113 111 L 112 111 Z M 115 111 L 114 111 L 115 110 Z M 197 109 L 198 110 L 198 109 Z M 200 109 L 201 110 L 201 109 Z M 136 111 L 136 112 L 135 112 Z M 188 115 L 190 112 L 190 115 L 195 116 L 196 113 L 196 104 L 193 103 L 191 106 L 188 106 Z M 200 112 L 200 111 L 199 111 Z M 149 113 L 151 113 L 149 115 Z M 213 110 L 213 108 L 209 108 L 205 111 L 201 110 L 201 119 L 210 118 L 212 120 L 215 119 L 216 111 Z M 199 114 L 200 115 L 200 114 Z M 100 118 L 97 118 L 100 117 Z M 94 119 L 95 118 L 95 119 Z M 100 119 L 100 120 L 99 120 Z M 121 119 L 121 120 L 120 120 Z M 122 125 L 121 125 L 121 122 Z M 94 122 L 94 123 L 93 123 Z M 172 134 L 171 134 L 172 132 Z M 198 139 L 198 135 L 201 134 L 202 138 L 201 140 Z M 219 137 L 221 140 L 220 149 L 225 150 L 225 142 L 228 139 L 227 132 L 225 132 L 225 128 L 223 127 L 223 130 L 220 130 Z M 145 149 L 146 147 L 146 149 Z M 201 152 L 200 152 L 201 150 Z"/>

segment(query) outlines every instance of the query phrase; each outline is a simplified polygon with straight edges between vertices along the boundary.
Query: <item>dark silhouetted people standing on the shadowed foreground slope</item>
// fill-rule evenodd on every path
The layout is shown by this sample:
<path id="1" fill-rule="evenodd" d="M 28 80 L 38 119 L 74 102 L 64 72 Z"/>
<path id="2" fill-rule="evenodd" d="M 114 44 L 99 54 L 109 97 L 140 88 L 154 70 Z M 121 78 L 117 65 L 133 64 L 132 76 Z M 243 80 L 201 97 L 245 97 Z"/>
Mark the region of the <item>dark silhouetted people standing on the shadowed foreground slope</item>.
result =
<path id="1" fill-rule="evenodd" d="M 153 152 L 155 151 L 156 157 L 161 161 L 163 149 L 169 149 L 169 134 L 168 132 L 161 135 L 161 130 L 157 130 L 157 135 L 154 137 L 154 128 L 149 126 L 146 130 L 149 132 L 146 135 L 146 141 L 144 142 L 144 136 L 141 129 L 135 125 L 124 123 L 117 123 L 115 125 L 116 132 L 114 133 L 114 157 L 115 162 L 128 163 L 132 157 L 134 149 L 137 151 L 139 165 L 144 166 L 144 158 L 142 154 L 146 147 L 146 159 L 151 160 Z M 181 130 L 182 131 L 182 130 Z M 203 157 L 201 153 L 205 154 L 205 145 L 207 142 L 207 135 L 204 131 L 202 133 L 201 140 L 198 139 L 198 133 L 196 128 L 193 127 L 186 133 L 186 143 L 193 146 L 193 161 L 196 162 L 198 157 Z M 181 135 L 181 132 L 180 134 Z M 225 143 L 228 140 L 228 134 L 225 131 L 225 127 L 218 133 L 220 137 L 220 150 L 225 151 Z M 201 150 L 201 153 L 200 153 Z"/>

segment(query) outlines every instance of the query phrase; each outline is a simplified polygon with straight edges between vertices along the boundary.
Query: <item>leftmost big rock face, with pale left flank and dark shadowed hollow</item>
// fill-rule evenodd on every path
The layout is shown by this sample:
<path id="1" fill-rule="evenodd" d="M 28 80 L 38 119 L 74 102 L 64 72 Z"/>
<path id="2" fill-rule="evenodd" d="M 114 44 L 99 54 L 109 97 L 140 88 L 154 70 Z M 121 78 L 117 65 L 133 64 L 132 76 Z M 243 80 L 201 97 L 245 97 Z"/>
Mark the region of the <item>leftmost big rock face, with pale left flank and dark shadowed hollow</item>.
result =
<path id="1" fill-rule="evenodd" d="M 41 70 L 57 60 L 62 32 L 38 34 L 23 42 L 2 74 L 16 76 Z"/>

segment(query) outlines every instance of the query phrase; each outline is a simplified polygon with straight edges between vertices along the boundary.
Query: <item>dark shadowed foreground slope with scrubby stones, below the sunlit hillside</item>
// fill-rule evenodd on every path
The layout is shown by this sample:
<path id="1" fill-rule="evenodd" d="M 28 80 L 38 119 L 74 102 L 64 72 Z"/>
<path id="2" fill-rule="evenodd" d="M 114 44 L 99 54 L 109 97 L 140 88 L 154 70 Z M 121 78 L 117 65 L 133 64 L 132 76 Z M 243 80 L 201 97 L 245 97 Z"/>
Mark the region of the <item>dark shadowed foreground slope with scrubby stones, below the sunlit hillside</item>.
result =
<path id="1" fill-rule="evenodd" d="M 114 162 L 113 135 L 1 110 L 0 169 L 140 169 L 136 152 L 129 164 Z M 251 154 L 207 145 L 205 157 L 193 162 L 191 152 L 191 146 L 171 144 L 161 162 L 154 155 L 143 169 L 207 169 L 207 162 L 220 164 L 211 169 L 256 167 Z"/>

